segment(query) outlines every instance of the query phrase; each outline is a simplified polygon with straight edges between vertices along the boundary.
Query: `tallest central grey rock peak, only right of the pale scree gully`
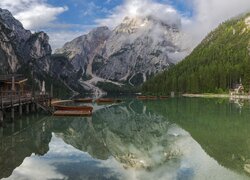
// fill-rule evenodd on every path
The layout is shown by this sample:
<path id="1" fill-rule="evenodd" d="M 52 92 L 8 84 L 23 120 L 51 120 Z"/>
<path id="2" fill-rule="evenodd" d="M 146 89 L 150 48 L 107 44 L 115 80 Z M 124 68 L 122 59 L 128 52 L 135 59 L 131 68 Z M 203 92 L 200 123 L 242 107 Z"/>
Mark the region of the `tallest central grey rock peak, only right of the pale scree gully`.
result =
<path id="1" fill-rule="evenodd" d="M 106 42 L 102 55 L 107 61 L 95 73 L 114 81 L 141 84 L 172 64 L 168 54 L 181 51 L 180 36 L 176 27 L 151 18 L 125 18 Z"/>

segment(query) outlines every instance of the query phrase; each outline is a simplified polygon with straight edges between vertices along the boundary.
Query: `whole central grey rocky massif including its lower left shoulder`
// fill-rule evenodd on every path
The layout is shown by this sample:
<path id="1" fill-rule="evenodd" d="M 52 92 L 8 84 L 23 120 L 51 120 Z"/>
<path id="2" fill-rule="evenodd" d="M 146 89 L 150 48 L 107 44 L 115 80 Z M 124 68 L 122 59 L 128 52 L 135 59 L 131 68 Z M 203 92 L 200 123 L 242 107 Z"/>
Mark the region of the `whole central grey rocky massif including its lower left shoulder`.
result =
<path id="1" fill-rule="evenodd" d="M 177 25 L 152 17 L 125 18 L 113 31 L 97 28 L 56 53 L 67 55 L 76 70 L 81 67 L 93 78 L 139 85 L 181 59 L 181 37 Z"/>

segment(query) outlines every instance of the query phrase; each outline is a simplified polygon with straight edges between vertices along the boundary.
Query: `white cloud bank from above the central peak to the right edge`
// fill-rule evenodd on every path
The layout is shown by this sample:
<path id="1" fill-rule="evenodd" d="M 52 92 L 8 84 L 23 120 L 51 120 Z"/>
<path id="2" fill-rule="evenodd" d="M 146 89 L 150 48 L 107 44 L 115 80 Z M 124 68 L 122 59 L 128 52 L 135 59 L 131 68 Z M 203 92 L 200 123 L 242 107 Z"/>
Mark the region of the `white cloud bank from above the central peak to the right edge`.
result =
<path id="1" fill-rule="evenodd" d="M 113 28 L 126 16 L 154 16 L 168 23 L 181 19 L 182 29 L 187 34 L 185 43 L 195 47 L 220 23 L 250 10 L 250 0 L 179 0 L 193 11 L 192 17 L 188 17 L 170 6 L 171 1 L 125 0 L 108 17 L 96 22 Z"/>

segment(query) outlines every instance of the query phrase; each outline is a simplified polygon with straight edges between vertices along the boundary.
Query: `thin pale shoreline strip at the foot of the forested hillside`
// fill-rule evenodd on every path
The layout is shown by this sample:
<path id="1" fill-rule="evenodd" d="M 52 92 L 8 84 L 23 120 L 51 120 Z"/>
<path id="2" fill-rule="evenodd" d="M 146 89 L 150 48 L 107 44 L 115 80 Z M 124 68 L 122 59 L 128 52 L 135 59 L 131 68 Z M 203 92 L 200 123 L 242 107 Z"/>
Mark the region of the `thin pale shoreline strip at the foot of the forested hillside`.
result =
<path id="1" fill-rule="evenodd" d="M 230 94 L 182 94 L 183 97 L 202 97 L 202 98 L 229 98 L 229 99 L 246 99 L 250 100 L 250 95 L 233 95 Z"/>

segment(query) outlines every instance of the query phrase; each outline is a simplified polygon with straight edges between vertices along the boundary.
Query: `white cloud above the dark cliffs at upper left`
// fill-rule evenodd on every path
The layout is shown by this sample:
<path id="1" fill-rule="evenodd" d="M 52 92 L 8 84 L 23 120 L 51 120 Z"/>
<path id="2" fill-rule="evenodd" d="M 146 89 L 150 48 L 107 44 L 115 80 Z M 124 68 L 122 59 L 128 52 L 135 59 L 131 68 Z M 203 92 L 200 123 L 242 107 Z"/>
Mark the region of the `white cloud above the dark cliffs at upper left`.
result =
<path id="1" fill-rule="evenodd" d="M 65 42 L 72 40 L 81 32 L 69 30 L 70 28 L 84 29 L 77 24 L 63 24 L 57 22 L 57 16 L 68 8 L 54 7 L 45 0 L 0 0 L 0 7 L 8 9 L 18 19 L 25 29 L 32 32 L 41 29 L 50 29 L 46 33 L 50 37 L 52 49 L 61 47 Z"/>

